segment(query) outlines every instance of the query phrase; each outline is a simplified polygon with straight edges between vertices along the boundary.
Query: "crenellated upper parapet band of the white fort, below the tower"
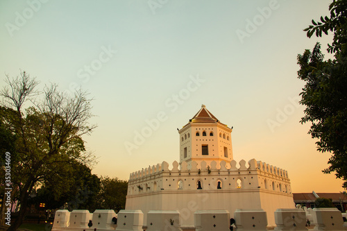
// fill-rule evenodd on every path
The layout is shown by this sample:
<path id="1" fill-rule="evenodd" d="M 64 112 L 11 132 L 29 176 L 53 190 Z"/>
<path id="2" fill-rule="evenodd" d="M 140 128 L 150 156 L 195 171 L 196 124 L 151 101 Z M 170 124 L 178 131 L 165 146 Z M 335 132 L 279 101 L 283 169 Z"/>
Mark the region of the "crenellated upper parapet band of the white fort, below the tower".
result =
<path id="1" fill-rule="evenodd" d="M 267 189 L 290 194 L 287 171 L 255 159 L 231 162 L 167 162 L 130 173 L 128 196 L 163 190 Z"/>

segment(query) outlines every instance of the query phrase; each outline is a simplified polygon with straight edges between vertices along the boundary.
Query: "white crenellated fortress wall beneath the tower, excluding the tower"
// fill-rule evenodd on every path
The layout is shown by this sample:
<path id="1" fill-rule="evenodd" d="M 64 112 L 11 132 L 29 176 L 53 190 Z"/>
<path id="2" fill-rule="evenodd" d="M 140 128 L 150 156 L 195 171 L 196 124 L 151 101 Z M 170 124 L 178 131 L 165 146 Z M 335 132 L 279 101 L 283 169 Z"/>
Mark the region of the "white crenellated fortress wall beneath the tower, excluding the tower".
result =
<path id="1" fill-rule="evenodd" d="M 239 166 L 235 160 L 178 165 L 175 161 L 169 169 L 162 162 L 131 173 L 126 209 L 141 209 L 144 216 L 154 209 L 178 210 L 183 226 L 189 227 L 194 225 L 196 210 L 226 209 L 232 217 L 235 209 L 262 208 L 269 225 L 274 225 L 276 209 L 294 208 L 287 171 L 269 164 L 253 159 L 248 166 L 244 160 Z"/>

